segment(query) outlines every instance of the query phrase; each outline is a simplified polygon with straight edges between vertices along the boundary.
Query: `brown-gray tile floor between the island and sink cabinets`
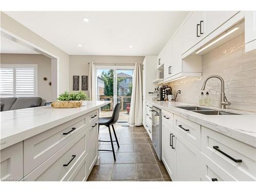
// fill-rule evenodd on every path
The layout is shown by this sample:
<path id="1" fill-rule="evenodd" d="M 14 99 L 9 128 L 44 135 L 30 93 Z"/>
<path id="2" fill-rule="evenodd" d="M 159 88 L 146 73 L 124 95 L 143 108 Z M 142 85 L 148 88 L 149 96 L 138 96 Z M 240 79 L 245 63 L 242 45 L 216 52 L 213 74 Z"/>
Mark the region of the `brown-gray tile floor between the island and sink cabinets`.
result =
<path id="1" fill-rule="evenodd" d="M 119 124 L 115 130 L 120 145 L 115 144 L 116 161 L 112 152 L 99 151 L 100 165 L 94 166 L 88 181 L 172 181 L 143 126 Z M 99 136 L 109 140 L 105 126 L 100 127 Z M 111 144 L 99 142 L 99 149 L 111 150 Z"/>

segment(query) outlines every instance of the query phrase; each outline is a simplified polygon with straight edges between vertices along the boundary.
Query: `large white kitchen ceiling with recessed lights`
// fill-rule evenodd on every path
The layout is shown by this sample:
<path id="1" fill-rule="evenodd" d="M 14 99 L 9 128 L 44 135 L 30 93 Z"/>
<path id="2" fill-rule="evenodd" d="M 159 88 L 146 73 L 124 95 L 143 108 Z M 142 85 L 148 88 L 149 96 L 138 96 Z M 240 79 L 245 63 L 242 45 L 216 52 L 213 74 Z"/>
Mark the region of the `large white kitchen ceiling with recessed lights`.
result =
<path id="1" fill-rule="evenodd" d="M 188 14 L 187 11 L 6 13 L 70 55 L 141 56 L 158 54 Z M 84 22 L 83 17 L 89 22 Z"/>

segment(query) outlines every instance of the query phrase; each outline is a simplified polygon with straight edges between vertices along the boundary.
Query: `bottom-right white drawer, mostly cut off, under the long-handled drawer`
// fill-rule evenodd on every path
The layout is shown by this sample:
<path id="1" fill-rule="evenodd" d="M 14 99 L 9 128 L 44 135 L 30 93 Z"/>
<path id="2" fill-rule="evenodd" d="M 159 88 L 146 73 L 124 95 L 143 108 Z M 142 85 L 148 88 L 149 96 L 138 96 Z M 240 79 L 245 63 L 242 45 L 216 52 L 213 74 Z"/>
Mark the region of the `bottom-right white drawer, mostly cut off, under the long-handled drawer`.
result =
<path id="1" fill-rule="evenodd" d="M 202 154 L 201 181 L 236 181 L 224 169 Z"/>

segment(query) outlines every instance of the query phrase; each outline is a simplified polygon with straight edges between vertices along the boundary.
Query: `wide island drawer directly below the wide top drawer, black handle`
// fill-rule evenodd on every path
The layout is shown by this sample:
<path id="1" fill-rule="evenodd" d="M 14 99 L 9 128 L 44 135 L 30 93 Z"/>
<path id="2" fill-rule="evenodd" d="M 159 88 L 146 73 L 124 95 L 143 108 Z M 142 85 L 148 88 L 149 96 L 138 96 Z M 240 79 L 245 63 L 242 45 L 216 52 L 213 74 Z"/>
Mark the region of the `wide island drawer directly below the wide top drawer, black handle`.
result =
<path id="1" fill-rule="evenodd" d="M 87 156 L 86 134 L 88 129 L 35 168 L 25 181 L 65 181 L 75 172 L 77 164 Z"/>

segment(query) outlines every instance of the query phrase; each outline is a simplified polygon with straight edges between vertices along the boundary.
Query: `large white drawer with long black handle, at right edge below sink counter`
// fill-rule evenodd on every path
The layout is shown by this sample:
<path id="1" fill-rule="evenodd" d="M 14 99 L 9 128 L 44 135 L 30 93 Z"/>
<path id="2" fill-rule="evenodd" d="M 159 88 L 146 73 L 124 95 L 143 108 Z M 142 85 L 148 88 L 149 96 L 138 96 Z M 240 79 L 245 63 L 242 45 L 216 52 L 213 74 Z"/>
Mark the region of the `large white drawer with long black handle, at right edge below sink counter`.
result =
<path id="1" fill-rule="evenodd" d="M 255 147 L 202 126 L 202 152 L 234 179 L 256 180 Z"/>

